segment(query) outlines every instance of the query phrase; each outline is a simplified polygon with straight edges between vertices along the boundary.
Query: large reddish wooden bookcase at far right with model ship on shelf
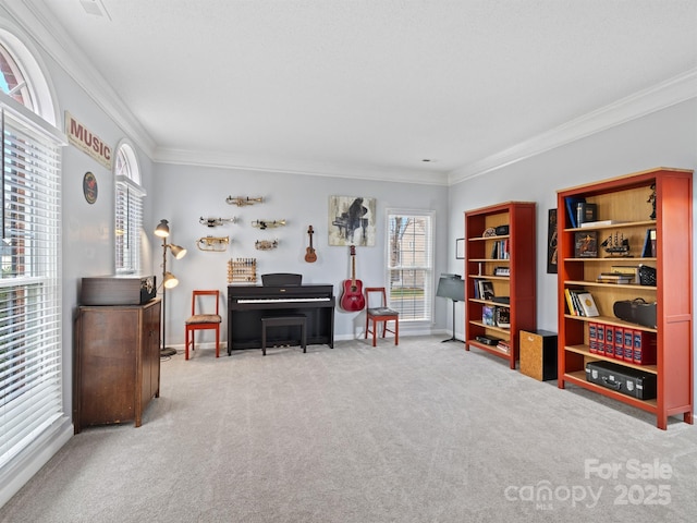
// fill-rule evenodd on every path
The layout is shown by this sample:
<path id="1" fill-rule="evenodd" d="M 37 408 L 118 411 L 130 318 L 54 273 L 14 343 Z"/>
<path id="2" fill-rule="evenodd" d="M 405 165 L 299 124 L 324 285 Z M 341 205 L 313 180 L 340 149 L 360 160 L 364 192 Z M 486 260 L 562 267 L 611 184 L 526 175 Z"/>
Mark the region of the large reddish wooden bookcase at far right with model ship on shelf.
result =
<path id="1" fill-rule="evenodd" d="M 573 384 L 648 411 L 662 429 L 673 415 L 682 414 L 686 423 L 693 423 L 692 174 L 657 168 L 558 192 L 559 387 Z M 578 198 L 596 205 L 598 221 L 594 226 L 572 227 L 566 203 Z M 607 220 L 614 222 L 602 224 Z M 595 257 L 582 257 L 577 248 L 577 235 L 583 239 L 588 232 L 597 233 Z M 652 235 L 655 254 L 650 252 Z M 631 257 L 621 253 L 613 256 L 602 245 L 606 240 L 606 247 L 628 245 Z M 649 248 L 645 251 L 647 242 Z M 613 267 L 639 264 L 656 268 L 655 284 L 599 281 L 601 273 L 612 272 Z M 568 308 L 565 291 L 580 289 L 590 292 L 600 316 L 578 316 Z M 656 303 L 656 328 L 614 315 L 615 302 L 637 297 Z M 589 335 L 598 326 L 638 333 L 656 343 L 656 363 L 620 358 L 597 341 L 591 343 Z M 656 398 L 640 400 L 587 381 L 585 366 L 592 361 L 612 361 L 624 368 L 655 374 Z"/>

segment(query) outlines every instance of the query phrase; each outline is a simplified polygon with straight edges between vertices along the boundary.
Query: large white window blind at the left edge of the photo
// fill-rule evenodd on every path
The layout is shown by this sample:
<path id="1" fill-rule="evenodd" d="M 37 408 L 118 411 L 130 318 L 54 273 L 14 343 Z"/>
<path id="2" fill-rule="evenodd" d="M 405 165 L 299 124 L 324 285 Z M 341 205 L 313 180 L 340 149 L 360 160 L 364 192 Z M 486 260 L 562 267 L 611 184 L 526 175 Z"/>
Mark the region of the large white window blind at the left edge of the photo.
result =
<path id="1" fill-rule="evenodd" d="M 11 100 L 13 101 L 13 100 Z M 28 112 L 28 111 L 27 111 Z M 0 97 L 0 467 L 64 416 L 60 315 L 60 146 L 52 127 Z"/>

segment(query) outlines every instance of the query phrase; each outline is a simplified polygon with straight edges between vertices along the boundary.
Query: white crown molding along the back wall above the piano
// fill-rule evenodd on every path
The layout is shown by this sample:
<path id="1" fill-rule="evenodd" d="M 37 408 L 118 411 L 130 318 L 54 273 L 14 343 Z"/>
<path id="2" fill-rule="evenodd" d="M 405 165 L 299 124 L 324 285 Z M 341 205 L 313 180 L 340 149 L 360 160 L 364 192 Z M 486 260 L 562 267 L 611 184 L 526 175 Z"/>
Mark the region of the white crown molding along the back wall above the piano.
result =
<path id="1" fill-rule="evenodd" d="M 210 167 L 239 171 L 282 172 L 307 177 L 347 178 L 382 182 L 417 183 L 423 185 L 448 185 L 448 174 L 438 171 L 415 169 L 381 169 L 359 163 L 332 163 L 305 161 L 289 158 L 243 157 L 227 153 L 206 153 L 158 148 L 154 161 L 180 166 Z"/>

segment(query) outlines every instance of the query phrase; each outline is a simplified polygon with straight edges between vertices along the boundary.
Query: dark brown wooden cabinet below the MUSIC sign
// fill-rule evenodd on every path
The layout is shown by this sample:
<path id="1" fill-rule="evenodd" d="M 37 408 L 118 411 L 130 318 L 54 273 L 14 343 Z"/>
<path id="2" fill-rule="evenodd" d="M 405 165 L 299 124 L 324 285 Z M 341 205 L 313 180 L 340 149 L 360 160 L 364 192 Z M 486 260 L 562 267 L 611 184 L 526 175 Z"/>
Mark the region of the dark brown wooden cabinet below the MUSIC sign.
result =
<path id="1" fill-rule="evenodd" d="M 145 305 L 81 306 L 73 377 L 75 434 L 134 421 L 160 396 L 160 300 Z"/>

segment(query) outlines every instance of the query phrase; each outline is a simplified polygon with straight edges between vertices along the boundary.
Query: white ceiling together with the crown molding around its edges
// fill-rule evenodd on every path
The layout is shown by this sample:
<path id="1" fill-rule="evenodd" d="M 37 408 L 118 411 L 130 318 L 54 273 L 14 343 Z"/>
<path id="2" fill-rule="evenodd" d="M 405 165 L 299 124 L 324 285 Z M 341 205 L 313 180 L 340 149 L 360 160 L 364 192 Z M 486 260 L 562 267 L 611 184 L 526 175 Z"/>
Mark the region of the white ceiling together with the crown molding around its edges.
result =
<path id="1" fill-rule="evenodd" d="M 695 0 L 23 3 L 158 161 L 454 183 L 697 96 Z"/>

